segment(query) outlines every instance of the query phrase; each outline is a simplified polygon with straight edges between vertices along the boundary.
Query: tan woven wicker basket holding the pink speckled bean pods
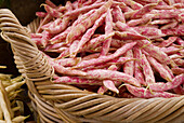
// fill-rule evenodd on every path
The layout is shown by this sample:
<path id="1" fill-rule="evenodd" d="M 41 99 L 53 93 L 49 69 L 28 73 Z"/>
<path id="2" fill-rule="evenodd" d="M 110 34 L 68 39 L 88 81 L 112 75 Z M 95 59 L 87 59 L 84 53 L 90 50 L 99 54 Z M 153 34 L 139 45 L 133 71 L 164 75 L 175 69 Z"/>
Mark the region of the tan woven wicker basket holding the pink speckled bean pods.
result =
<path id="1" fill-rule="evenodd" d="M 11 43 L 15 64 L 27 80 L 29 97 L 40 122 L 184 122 L 184 96 L 116 98 L 52 83 L 54 70 L 30 40 L 28 29 L 6 9 L 0 10 L 0 22 L 1 37 Z M 38 25 L 36 19 L 28 28 L 35 31 Z"/>

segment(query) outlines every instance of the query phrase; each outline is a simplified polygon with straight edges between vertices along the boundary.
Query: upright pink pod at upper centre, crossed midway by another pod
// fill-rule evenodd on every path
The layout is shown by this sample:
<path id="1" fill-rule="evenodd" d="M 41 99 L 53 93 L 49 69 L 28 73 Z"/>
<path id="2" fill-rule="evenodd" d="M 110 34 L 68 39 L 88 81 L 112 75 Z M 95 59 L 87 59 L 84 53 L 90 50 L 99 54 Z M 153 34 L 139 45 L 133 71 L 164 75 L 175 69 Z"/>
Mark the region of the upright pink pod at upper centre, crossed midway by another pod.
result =
<path id="1" fill-rule="evenodd" d="M 107 10 L 105 24 L 106 24 L 105 25 L 105 35 L 111 33 L 113 32 L 113 16 L 111 16 L 111 13 L 110 13 L 110 9 Z M 111 43 L 111 37 L 103 42 L 101 56 L 104 56 L 108 53 L 109 47 L 110 47 L 110 43 Z"/>

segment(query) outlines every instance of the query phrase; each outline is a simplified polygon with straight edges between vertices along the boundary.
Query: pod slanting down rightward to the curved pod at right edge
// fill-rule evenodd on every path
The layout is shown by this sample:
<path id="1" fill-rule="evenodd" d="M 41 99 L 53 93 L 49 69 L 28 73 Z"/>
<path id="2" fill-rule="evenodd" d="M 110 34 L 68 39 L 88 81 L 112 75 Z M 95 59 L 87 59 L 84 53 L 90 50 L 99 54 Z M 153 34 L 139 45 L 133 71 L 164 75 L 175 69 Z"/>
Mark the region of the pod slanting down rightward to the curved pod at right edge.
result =
<path id="1" fill-rule="evenodd" d="M 149 64 L 156 69 L 156 71 L 158 71 L 161 76 L 161 78 L 163 78 L 165 80 L 171 82 L 172 81 L 172 77 L 170 76 L 170 73 L 163 68 L 163 66 L 158 63 L 155 58 L 147 56 L 147 59 L 149 62 Z"/>

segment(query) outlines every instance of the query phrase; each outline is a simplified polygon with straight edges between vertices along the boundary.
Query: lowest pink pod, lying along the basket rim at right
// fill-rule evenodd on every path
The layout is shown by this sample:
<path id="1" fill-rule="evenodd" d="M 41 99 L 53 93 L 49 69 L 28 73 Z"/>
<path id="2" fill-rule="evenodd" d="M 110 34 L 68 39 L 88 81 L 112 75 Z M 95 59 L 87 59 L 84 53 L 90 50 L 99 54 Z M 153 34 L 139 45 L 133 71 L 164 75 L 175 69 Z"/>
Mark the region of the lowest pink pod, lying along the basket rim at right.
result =
<path id="1" fill-rule="evenodd" d="M 180 95 L 168 93 L 168 92 L 150 92 L 144 87 L 135 87 L 130 84 L 126 84 L 128 91 L 139 98 L 154 98 L 154 97 L 163 97 L 163 98 L 171 98 L 171 97 L 179 97 Z"/>

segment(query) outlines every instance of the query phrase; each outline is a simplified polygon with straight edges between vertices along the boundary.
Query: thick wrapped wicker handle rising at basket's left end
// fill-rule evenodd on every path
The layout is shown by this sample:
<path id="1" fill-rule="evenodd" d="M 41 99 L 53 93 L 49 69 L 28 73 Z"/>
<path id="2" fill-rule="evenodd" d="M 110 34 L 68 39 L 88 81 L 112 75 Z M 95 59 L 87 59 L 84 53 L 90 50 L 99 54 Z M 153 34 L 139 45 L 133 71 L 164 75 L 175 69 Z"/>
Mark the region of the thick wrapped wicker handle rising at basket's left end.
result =
<path id="1" fill-rule="evenodd" d="M 28 31 L 8 9 L 0 9 L 1 37 L 11 43 L 19 72 L 30 81 L 52 78 L 54 69 L 31 41 Z"/>

